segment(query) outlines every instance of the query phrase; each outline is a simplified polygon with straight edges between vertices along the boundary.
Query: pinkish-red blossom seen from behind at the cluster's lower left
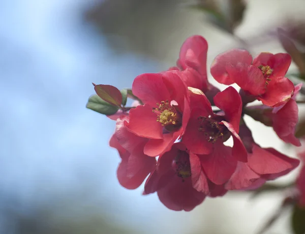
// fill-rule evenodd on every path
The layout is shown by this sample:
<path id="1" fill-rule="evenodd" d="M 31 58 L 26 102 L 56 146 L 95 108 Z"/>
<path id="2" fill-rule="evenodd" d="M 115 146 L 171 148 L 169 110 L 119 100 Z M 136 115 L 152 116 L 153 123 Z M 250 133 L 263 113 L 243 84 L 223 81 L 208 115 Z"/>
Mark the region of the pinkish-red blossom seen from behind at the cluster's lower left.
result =
<path id="1" fill-rule="evenodd" d="M 129 132 L 123 124 L 124 121 L 128 121 L 127 116 L 117 119 L 116 130 L 109 145 L 117 149 L 121 158 L 117 168 L 117 179 L 120 185 L 127 189 L 136 189 L 154 170 L 156 159 L 143 153 L 144 145 L 148 139 Z"/>

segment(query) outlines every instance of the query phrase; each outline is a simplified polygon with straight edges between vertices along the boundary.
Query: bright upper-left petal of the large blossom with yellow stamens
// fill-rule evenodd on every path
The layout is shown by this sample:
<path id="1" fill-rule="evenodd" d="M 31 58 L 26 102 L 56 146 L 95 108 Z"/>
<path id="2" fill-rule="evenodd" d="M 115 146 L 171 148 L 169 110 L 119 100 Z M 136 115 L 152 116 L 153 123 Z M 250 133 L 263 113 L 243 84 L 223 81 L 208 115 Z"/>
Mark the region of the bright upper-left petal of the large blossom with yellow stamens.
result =
<path id="1" fill-rule="evenodd" d="M 162 73 L 145 73 L 137 76 L 132 84 L 132 92 L 143 103 L 153 107 L 157 107 L 156 103 L 170 100 Z"/>

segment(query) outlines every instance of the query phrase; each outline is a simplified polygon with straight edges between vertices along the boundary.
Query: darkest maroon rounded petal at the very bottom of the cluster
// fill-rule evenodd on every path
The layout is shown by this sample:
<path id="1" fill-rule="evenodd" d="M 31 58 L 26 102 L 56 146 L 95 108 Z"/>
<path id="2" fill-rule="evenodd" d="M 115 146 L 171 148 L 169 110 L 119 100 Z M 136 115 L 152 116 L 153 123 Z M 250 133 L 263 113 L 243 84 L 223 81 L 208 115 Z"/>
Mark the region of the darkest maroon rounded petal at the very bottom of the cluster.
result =
<path id="1" fill-rule="evenodd" d="M 191 178 L 186 178 L 183 182 L 177 176 L 157 193 L 160 201 L 173 211 L 191 211 L 205 198 L 203 193 L 193 188 Z"/>

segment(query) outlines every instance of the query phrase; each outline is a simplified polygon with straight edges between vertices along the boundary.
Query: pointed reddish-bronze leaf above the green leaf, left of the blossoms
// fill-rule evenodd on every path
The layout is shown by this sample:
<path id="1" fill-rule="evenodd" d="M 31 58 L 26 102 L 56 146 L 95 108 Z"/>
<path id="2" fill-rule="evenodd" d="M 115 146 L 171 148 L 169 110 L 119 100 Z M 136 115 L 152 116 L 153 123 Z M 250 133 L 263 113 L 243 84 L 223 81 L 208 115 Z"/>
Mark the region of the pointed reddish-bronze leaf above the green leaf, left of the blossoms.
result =
<path id="1" fill-rule="evenodd" d="M 95 84 L 94 84 L 95 85 Z M 104 101 L 114 106 L 120 106 L 122 103 L 122 95 L 116 87 L 108 84 L 98 84 L 94 86 L 97 95 Z"/>

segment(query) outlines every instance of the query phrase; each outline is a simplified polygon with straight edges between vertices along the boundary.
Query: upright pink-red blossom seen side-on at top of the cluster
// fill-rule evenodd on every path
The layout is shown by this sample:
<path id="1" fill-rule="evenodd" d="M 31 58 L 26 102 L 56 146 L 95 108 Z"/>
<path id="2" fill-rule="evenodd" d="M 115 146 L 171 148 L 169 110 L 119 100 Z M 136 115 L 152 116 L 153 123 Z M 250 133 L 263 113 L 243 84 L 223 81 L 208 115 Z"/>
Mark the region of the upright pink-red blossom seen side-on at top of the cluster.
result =
<path id="1" fill-rule="evenodd" d="M 206 57 L 207 42 L 199 35 L 194 35 L 182 44 L 177 60 L 177 67 L 171 69 L 188 70 L 188 73 L 181 76 L 182 80 L 189 87 L 201 90 L 209 101 L 220 92 L 217 87 L 207 80 Z"/>

